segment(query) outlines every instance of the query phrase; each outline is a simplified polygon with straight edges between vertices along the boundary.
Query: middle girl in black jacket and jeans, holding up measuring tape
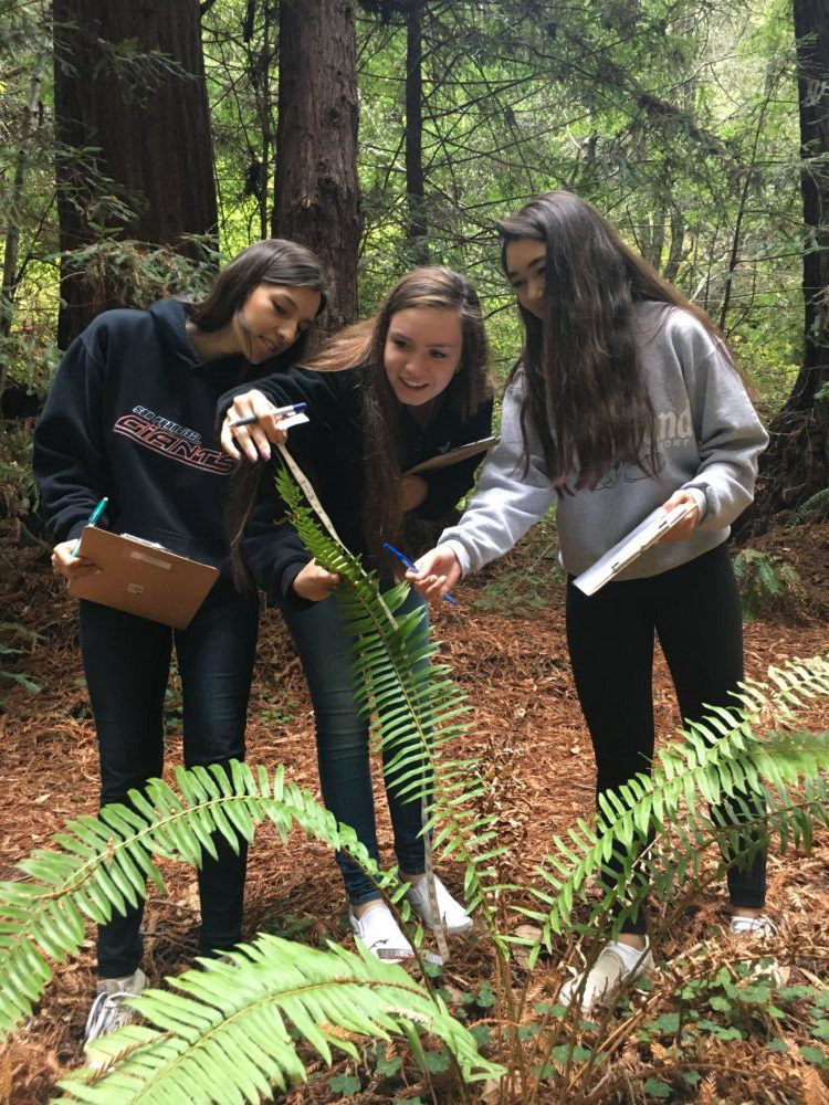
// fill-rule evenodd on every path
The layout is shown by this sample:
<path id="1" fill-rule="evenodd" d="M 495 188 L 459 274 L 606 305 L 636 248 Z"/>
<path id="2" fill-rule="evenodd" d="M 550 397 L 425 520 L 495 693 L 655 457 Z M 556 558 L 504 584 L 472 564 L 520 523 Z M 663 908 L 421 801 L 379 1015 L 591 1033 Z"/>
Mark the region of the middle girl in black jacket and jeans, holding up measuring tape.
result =
<path id="1" fill-rule="evenodd" d="M 345 545 L 391 581 L 401 569 L 384 555 L 382 543 L 400 547 L 413 523 L 445 516 L 472 485 L 480 456 L 422 475 L 403 473 L 490 433 L 492 399 L 478 295 L 451 270 L 414 270 L 374 318 L 338 335 L 307 370 L 275 373 L 258 389 L 220 403 L 223 409 L 233 399 L 222 431 L 225 450 L 252 461 L 270 456 L 269 436 L 284 438 L 271 414 L 274 406 L 307 402 L 311 421 L 292 431 L 292 455 L 312 477 Z M 249 414 L 260 415 L 259 421 L 231 428 Z M 256 583 L 283 602 L 314 705 L 325 803 L 377 859 L 367 723 L 354 702 L 351 641 L 330 597 L 339 579 L 311 560 L 290 525 L 275 525 L 283 512 L 273 480 L 266 478 L 250 522 L 239 525 L 241 551 Z M 414 555 L 416 548 L 408 545 L 408 551 Z M 412 591 L 401 612 L 417 608 L 426 618 L 423 601 Z M 387 760 L 389 755 L 403 753 L 396 746 Z M 393 786 L 387 798 L 400 872 L 412 884 L 410 901 L 431 924 L 420 803 L 407 802 Z M 410 955 L 371 881 L 345 857 L 338 862 L 354 932 L 382 958 Z M 448 930 L 469 928 L 471 918 L 440 880 L 436 890 Z"/>

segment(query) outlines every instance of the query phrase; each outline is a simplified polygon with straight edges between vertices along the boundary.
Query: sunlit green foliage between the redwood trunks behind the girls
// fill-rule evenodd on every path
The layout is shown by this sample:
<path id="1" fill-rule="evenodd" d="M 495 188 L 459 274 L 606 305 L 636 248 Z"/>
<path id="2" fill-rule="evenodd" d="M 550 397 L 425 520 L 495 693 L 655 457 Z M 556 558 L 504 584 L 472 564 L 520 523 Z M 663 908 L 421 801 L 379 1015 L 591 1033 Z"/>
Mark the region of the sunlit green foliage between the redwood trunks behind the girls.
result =
<path id="1" fill-rule="evenodd" d="M 413 260 L 406 238 L 405 11 L 400 4 L 356 9 L 364 314 Z M 8 139 L 0 146 L 0 211 L 8 210 L 2 201 L 24 141 L 30 76 L 51 49 L 50 19 L 45 0 L 12 0 L 0 11 Z M 550 12 L 535 0 L 462 0 L 424 6 L 422 28 L 426 245 L 430 260 L 463 269 L 476 282 L 499 375 L 515 358 L 520 329 L 500 273 L 494 222 L 538 191 L 566 187 L 596 202 L 723 324 L 760 403 L 778 407 L 801 346 L 789 4 L 577 0 Z M 227 259 L 270 233 L 277 20 L 267 4 L 223 0 L 206 6 L 202 42 Z M 113 64 L 135 71 L 138 92 L 165 64 L 129 43 L 111 53 Z M 24 272 L 12 326 L 12 337 L 41 335 L 35 361 L 51 356 L 57 303 L 52 101 L 45 65 L 18 212 Z M 104 207 L 116 202 L 103 179 L 94 192 Z M 0 250 L 4 229 L 0 214 Z M 125 285 L 138 285 L 134 293 L 125 286 L 125 302 L 146 302 L 148 281 L 165 294 L 191 286 L 191 274 L 172 257 L 157 260 L 170 266 L 166 282 L 148 273 L 151 260 L 134 266 L 107 254 Z M 14 366 L 14 375 L 23 370 L 38 387 L 49 379 L 22 351 Z"/>

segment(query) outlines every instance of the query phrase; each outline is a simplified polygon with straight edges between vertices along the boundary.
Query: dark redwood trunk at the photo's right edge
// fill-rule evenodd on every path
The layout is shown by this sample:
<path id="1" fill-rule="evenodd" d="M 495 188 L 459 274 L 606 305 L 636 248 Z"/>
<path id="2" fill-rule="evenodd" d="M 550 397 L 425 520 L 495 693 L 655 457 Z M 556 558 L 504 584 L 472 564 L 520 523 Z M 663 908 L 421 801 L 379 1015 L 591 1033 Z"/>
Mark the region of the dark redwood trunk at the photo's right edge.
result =
<path id="1" fill-rule="evenodd" d="M 829 486 L 829 0 L 794 0 L 804 200 L 804 360 L 760 459 L 757 501 L 741 532 Z"/>

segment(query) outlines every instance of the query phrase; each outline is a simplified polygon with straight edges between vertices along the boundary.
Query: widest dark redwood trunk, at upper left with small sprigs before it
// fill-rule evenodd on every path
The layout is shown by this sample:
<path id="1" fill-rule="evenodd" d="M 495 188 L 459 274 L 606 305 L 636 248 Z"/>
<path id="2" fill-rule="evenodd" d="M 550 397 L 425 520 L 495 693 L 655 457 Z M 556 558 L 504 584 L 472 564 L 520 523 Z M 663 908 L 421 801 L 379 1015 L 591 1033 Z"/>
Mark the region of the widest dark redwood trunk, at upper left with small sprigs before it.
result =
<path id="1" fill-rule="evenodd" d="M 53 0 L 53 14 L 65 348 L 123 303 L 66 251 L 114 234 L 188 254 L 186 235 L 216 232 L 217 207 L 198 0 Z M 132 214 L 104 206 L 113 193 Z"/>

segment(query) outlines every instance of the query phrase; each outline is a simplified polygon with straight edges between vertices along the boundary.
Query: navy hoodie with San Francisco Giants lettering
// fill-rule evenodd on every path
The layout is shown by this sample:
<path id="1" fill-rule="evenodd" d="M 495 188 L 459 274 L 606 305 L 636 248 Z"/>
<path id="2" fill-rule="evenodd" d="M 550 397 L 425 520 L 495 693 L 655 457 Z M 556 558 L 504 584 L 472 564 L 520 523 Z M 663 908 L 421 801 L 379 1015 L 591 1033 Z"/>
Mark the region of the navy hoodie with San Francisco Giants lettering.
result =
<path id="1" fill-rule="evenodd" d="M 216 403 L 262 366 L 201 362 L 185 322 L 177 299 L 107 311 L 66 350 L 34 432 L 55 540 L 77 537 L 107 495 L 103 528 L 227 571 L 222 496 L 234 464 L 219 444 Z"/>

